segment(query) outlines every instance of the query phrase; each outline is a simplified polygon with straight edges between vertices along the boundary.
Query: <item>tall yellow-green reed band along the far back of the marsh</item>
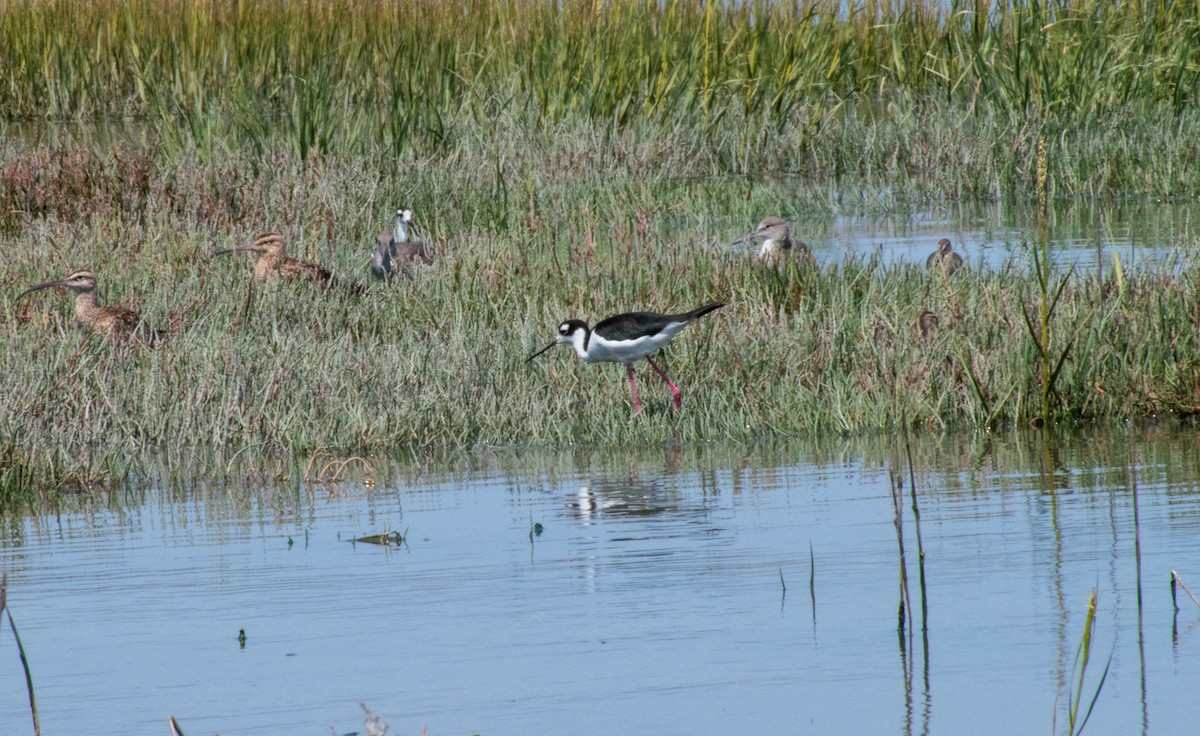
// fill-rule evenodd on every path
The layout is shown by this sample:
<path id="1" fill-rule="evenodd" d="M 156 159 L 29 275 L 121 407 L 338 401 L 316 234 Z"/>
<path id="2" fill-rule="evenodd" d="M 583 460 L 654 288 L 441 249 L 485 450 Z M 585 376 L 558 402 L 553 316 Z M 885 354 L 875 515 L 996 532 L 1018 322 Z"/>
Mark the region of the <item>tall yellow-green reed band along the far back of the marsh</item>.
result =
<path id="1" fill-rule="evenodd" d="M 398 102 L 386 106 L 404 125 L 392 134 L 436 134 L 446 113 L 514 101 L 618 125 L 734 109 L 778 122 L 798 98 L 875 96 L 1090 121 L 1129 100 L 1187 107 L 1200 73 L 1187 2 L 8 0 L 0 11 L 11 114 L 136 115 L 204 96 L 212 110 L 258 102 L 301 136 L 335 127 L 341 102 Z"/>

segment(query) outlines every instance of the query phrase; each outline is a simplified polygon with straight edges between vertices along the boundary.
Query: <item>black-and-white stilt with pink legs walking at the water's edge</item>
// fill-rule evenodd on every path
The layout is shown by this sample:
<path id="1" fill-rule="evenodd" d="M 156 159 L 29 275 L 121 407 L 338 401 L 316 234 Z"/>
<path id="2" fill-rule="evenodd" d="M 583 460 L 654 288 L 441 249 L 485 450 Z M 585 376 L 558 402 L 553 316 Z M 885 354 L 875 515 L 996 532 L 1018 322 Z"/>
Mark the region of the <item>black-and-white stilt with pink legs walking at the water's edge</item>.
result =
<path id="1" fill-rule="evenodd" d="M 624 363 L 625 373 L 629 376 L 629 389 L 634 393 L 636 414 L 642 411 L 642 401 L 637 397 L 637 383 L 634 381 L 634 361 L 646 358 L 650 367 L 671 387 L 674 406 L 678 409 L 683 406 L 679 387 L 672 383 L 666 372 L 650 359 L 650 353 L 670 342 L 683 328 L 722 306 L 725 303 L 707 304 L 683 315 L 628 312 L 608 317 L 594 328 L 588 328 L 588 323 L 582 319 L 568 319 L 558 325 L 558 337 L 529 355 L 527 363 L 556 345 L 570 345 L 586 363 Z"/>

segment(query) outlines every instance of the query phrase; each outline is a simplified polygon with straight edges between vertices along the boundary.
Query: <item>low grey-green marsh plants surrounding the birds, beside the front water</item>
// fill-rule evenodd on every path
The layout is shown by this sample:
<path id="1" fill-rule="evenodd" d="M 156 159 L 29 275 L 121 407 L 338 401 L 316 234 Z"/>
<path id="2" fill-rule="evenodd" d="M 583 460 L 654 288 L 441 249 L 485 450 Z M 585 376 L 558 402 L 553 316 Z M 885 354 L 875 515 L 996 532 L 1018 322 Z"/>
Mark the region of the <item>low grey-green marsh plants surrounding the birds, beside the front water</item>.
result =
<path id="1" fill-rule="evenodd" d="M 559 155 L 553 143 L 540 150 Z M 95 203 L 86 216 L 56 204 L 56 182 L 73 181 L 58 164 L 30 174 L 48 204 L 0 255 L 0 436 L 22 462 L 60 475 L 120 477 L 137 451 L 175 447 L 628 444 L 854 432 L 901 415 L 934 429 L 1002 426 L 1042 409 L 1021 316 L 1032 255 L 1020 247 L 998 268 L 950 279 L 874 257 L 776 271 L 725 245 L 775 190 L 731 197 L 716 220 L 714 203 L 740 184 L 631 175 L 628 158 L 554 180 L 515 154 L 505 176 L 535 181 L 535 225 L 528 197 L 511 197 L 502 231 L 492 190 L 470 175 L 482 152 L 418 169 L 403 191 L 370 158 L 310 166 L 281 151 L 258 176 L 234 156 L 145 161 L 145 179 L 118 196 L 121 167 L 133 166 L 120 155 L 125 163 L 98 156 L 70 190 Z M 440 257 L 373 283 L 368 247 L 398 201 L 415 203 Z M 266 228 L 367 294 L 259 283 L 248 258 L 208 258 Z M 82 265 L 97 273 L 103 303 L 142 311 L 170 337 L 157 349 L 108 345 L 74 330 L 66 295 L 13 303 Z M 1082 327 L 1057 378 L 1056 418 L 1194 413 L 1198 281 L 1186 261 L 1130 269 L 1123 289 L 1111 275 L 1064 276 L 1056 329 Z M 631 421 L 619 366 L 583 365 L 565 348 L 524 363 L 566 317 L 716 299 L 730 305 L 664 354 L 684 390 L 679 414 L 650 378 L 647 411 Z M 922 339 L 913 323 L 926 309 L 941 327 Z"/>

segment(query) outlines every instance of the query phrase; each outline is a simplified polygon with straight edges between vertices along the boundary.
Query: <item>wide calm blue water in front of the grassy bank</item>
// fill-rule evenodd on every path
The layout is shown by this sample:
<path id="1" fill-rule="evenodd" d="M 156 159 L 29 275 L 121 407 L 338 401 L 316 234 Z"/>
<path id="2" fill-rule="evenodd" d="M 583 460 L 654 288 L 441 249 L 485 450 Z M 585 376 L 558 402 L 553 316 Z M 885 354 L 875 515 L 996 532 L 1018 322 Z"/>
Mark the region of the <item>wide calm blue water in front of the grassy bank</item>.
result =
<path id="1" fill-rule="evenodd" d="M 1194 728 L 1194 431 L 912 451 L 926 639 L 898 635 L 889 437 L 148 479 L 7 519 L 0 566 L 47 734 L 362 732 L 360 702 L 398 734 L 1051 732 L 1056 700 L 1062 731 L 1093 586 L 1087 732 Z M 0 732 L 31 732 L 0 642 Z"/>

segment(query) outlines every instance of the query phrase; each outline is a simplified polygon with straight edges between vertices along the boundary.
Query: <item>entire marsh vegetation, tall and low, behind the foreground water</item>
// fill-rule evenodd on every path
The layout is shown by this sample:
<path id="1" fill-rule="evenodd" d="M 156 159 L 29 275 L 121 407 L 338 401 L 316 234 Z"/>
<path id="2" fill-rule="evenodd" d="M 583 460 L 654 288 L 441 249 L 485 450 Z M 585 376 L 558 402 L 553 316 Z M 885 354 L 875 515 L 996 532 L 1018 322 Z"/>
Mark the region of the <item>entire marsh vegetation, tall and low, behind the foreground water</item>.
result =
<path id="1" fill-rule="evenodd" d="M 1190 5 L 49 0 L 0 2 L 0 37 L 5 487 L 120 477 L 186 445 L 640 443 L 1200 406 L 1189 231 L 1159 270 L 1054 275 L 1019 243 L 953 275 L 820 253 L 772 269 L 724 245 L 766 215 L 1200 193 Z M 439 258 L 372 283 L 398 205 Z M 269 229 L 365 293 L 209 259 Z M 168 339 L 80 337 L 66 298 L 14 301 L 72 268 Z M 679 414 L 647 382 L 631 421 L 614 366 L 523 363 L 566 317 L 716 299 L 664 354 Z"/>

